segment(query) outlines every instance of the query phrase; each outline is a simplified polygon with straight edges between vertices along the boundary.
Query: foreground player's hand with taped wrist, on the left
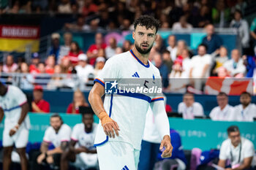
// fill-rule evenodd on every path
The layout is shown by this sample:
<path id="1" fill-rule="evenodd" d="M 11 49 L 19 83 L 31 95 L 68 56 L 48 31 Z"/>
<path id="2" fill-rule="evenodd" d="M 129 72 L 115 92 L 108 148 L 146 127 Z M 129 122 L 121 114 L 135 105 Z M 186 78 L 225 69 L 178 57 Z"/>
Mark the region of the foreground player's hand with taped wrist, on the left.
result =
<path id="1" fill-rule="evenodd" d="M 119 136 L 118 131 L 120 131 L 120 129 L 118 124 L 111 119 L 106 112 L 100 112 L 99 119 L 102 122 L 102 127 L 107 136 L 115 138 L 115 133 L 116 136 Z"/>

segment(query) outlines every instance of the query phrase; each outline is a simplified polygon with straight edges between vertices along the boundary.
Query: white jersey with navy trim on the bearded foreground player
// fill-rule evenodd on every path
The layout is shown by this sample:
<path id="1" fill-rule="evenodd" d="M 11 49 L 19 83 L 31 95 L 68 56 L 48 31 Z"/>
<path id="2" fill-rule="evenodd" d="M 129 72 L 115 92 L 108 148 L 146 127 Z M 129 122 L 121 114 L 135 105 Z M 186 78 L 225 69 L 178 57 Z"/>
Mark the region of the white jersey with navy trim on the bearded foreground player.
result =
<path id="1" fill-rule="evenodd" d="M 148 61 L 148 65 L 142 63 L 132 52 L 132 50 L 113 56 L 105 63 L 99 77 L 94 81 L 99 82 L 105 87 L 105 79 L 160 79 L 157 67 Z M 152 82 L 149 82 L 152 83 Z M 163 97 L 146 96 L 142 93 L 131 95 L 130 93 L 118 95 L 106 95 L 104 108 L 108 115 L 118 123 L 119 136 L 108 138 L 102 128 L 98 126 L 95 146 L 110 141 L 128 142 L 140 150 L 143 136 L 143 129 L 146 120 L 146 112 L 151 102 L 164 100 Z"/>

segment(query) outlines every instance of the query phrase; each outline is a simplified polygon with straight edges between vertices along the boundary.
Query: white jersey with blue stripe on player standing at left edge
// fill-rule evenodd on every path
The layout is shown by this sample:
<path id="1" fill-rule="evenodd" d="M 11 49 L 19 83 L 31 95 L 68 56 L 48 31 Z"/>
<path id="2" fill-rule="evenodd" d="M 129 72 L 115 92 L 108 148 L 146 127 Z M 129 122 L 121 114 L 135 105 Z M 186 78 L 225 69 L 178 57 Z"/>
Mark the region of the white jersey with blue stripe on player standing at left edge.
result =
<path id="1" fill-rule="evenodd" d="M 21 107 L 26 103 L 26 95 L 17 87 L 8 85 L 7 93 L 4 96 L 0 96 L 0 107 L 4 109 L 4 128 L 13 128 L 18 123 L 21 114 Z M 20 126 L 30 128 L 29 115 Z"/>

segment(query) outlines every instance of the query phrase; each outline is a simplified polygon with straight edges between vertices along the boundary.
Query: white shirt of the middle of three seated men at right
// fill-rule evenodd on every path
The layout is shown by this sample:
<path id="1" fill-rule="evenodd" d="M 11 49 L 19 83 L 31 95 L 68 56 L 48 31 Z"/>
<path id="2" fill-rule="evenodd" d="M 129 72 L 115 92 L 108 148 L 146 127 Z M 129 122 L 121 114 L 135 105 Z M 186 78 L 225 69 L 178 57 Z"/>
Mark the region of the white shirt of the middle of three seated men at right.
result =
<path id="1" fill-rule="evenodd" d="M 211 110 L 210 117 L 211 120 L 219 120 L 219 121 L 236 121 L 233 117 L 234 107 L 227 104 L 224 109 L 220 109 L 220 107 L 214 107 Z"/>

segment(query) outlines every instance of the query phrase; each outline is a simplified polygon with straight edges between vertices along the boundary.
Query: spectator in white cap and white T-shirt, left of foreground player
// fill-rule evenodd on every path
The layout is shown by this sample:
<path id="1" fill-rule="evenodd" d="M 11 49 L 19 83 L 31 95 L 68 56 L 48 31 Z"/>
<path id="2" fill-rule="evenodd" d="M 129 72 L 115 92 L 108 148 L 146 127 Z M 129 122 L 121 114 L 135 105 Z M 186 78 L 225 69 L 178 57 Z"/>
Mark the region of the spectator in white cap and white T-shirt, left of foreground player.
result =
<path id="1" fill-rule="evenodd" d="M 87 55 L 82 53 L 78 55 L 78 66 L 75 66 L 75 70 L 80 80 L 80 89 L 82 90 L 85 83 L 88 81 L 89 74 L 94 73 L 94 67 L 87 63 Z"/>

